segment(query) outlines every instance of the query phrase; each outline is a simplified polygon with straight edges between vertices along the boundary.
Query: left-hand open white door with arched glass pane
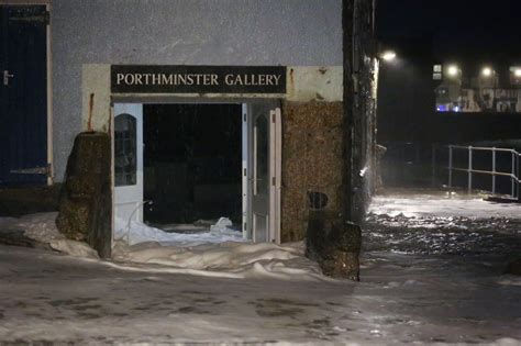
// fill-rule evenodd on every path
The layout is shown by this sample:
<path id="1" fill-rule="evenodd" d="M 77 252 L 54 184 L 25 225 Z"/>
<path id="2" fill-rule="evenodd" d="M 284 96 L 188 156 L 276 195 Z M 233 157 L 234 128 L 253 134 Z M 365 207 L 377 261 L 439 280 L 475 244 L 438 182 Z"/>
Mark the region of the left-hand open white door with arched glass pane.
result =
<path id="1" fill-rule="evenodd" d="M 114 214 L 143 221 L 143 104 L 114 104 Z"/>

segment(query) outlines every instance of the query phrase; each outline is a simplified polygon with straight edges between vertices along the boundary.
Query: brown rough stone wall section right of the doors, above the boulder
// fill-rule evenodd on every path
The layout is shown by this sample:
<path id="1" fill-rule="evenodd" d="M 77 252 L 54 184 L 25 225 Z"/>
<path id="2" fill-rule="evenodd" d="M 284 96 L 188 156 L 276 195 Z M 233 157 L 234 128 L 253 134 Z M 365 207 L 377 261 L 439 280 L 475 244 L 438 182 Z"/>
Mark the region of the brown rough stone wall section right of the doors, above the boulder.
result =
<path id="1" fill-rule="evenodd" d="M 306 237 L 308 192 L 325 193 L 325 211 L 342 213 L 343 123 L 341 102 L 284 104 L 282 243 Z"/>

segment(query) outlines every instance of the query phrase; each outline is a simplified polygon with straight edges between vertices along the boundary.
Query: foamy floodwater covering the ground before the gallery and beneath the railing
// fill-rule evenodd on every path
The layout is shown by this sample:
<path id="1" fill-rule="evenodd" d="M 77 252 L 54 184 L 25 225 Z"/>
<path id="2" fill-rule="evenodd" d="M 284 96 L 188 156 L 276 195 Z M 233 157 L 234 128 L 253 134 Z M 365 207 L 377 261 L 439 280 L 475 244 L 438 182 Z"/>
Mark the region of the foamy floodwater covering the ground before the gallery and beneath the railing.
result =
<path id="1" fill-rule="evenodd" d="M 521 256 L 520 210 L 377 197 L 357 283 L 173 275 L 0 247 L 0 341 L 520 345 L 521 279 L 505 274 Z"/>

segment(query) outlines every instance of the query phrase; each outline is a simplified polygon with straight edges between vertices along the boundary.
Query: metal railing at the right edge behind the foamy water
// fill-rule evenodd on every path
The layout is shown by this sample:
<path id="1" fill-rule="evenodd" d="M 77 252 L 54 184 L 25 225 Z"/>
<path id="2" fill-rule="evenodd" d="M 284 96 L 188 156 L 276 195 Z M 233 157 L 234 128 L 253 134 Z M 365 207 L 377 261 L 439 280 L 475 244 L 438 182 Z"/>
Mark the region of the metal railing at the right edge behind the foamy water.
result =
<path id="1" fill-rule="evenodd" d="M 521 154 L 514 149 L 509 148 L 497 148 L 497 147 L 479 147 L 479 146 L 461 146 L 461 145 L 447 145 L 448 148 L 448 187 L 453 186 L 453 172 L 461 171 L 467 174 L 467 189 L 468 192 L 473 189 L 473 177 L 474 175 L 488 175 L 491 176 L 491 192 L 492 194 L 497 193 L 497 179 L 496 177 L 507 177 L 510 178 L 511 189 L 510 196 L 512 198 L 519 199 L 519 186 L 520 186 L 520 176 L 519 176 L 519 160 Z M 457 150 L 466 150 L 468 153 L 468 161 L 466 167 L 456 167 L 454 166 L 454 153 Z M 491 153 L 491 170 L 476 169 L 473 166 L 473 157 L 475 153 L 478 152 L 489 152 Z M 510 169 L 509 171 L 497 170 L 497 155 L 501 153 L 509 155 L 510 153 Z M 433 163 L 434 163 L 433 154 Z M 434 168 L 433 168 L 434 169 Z"/>

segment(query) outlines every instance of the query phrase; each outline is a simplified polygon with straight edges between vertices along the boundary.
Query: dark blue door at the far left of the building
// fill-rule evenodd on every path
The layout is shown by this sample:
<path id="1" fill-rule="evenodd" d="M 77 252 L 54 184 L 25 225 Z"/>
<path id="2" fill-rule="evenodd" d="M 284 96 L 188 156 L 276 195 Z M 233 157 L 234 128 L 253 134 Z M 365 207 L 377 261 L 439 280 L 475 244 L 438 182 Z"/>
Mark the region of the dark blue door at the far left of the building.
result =
<path id="1" fill-rule="evenodd" d="M 44 5 L 0 5 L 0 186 L 47 181 Z"/>

